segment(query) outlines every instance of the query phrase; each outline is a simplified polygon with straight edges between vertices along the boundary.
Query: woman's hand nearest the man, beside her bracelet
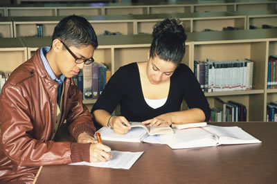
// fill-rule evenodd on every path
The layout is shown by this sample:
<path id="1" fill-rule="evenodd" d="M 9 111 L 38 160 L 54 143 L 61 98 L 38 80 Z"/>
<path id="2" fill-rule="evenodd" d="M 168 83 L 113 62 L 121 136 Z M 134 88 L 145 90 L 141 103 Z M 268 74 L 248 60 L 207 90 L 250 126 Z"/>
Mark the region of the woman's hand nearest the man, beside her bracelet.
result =
<path id="1" fill-rule="evenodd" d="M 109 125 L 116 134 L 126 134 L 131 126 L 124 116 L 111 117 Z"/>

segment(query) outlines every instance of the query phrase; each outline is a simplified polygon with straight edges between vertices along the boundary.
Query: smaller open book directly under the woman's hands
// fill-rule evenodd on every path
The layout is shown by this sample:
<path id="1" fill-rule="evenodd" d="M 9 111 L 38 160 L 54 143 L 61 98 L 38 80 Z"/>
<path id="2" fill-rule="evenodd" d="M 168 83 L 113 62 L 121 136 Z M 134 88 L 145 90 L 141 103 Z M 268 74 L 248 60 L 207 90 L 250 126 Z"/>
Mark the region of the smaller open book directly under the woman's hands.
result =
<path id="1" fill-rule="evenodd" d="M 141 122 L 130 122 L 131 129 L 126 134 L 116 134 L 113 129 L 102 127 L 96 133 L 101 134 L 102 140 L 116 140 L 124 142 L 141 142 L 145 136 L 157 134 L 174 134 L 171 127 L 147 126 Z M 96 135 L 96 134 L 95 134 Z"/>

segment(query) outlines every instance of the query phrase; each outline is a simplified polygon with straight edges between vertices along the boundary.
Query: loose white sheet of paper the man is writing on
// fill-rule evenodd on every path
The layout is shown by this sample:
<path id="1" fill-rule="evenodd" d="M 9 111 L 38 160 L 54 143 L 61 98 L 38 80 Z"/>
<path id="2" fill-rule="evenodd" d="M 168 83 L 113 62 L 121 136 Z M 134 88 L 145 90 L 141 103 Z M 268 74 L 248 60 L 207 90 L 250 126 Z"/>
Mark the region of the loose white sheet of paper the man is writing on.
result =
<path id="1" fill-rule="evenodd" d="M 69 165 L 88 165 L 93 167 L 108 167 L 114 169 L 129 169 L 134 165 L 136 160 L 143 154 L 140 152 L 129 152 L 129 151 L 111 151 L 111 160 L 102 163 L 71 163 Z"/>

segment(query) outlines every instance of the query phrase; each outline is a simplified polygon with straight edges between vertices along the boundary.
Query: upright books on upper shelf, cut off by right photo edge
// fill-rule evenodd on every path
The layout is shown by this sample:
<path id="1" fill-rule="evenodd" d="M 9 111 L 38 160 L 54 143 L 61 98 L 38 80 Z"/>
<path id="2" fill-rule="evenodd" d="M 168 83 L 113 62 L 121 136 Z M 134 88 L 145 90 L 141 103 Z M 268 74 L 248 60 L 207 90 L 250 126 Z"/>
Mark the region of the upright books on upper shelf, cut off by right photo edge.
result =
<path id="1" fill-rule="evenodd" d="M 270 55 L 267 70 L 267 89 L 277 89 L 277 55 Z"/>

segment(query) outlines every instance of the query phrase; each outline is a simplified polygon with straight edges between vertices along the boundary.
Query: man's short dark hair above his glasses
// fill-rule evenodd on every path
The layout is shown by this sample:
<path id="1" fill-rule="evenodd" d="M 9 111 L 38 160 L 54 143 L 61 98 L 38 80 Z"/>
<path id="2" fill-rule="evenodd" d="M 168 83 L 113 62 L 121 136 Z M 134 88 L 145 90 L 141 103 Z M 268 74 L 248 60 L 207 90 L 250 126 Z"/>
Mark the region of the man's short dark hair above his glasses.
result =
<path id="1" fill-rule="evenodd" d="M 77 15 L 64 17 L 55 26 L 52 42 L 57 38 L 62 39 L 67 46 L 92 45 L 94 48 L 98 47 L 98 40 L 93 27 L 87 19 Z"/>

